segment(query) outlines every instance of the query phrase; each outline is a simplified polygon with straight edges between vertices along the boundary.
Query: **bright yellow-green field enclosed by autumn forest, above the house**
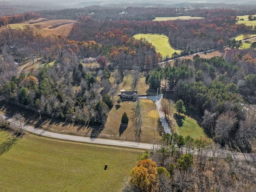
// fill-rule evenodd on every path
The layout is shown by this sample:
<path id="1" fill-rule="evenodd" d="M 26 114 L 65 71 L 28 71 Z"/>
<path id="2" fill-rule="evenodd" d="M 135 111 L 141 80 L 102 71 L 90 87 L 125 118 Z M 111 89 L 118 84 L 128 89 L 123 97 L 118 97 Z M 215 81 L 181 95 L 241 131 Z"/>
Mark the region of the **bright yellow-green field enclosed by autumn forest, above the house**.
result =
<path id="1" fill-rule="evenodd" d="M 180 54 L 180 50 L 175 50 L 171 47 L 168 37 L 165 35 L 158 34 L 137 34 L 134 35 L 134 38 L 146 38 L 148 42 L 152 43 L 156 47 L 156 52 L 162 54 L 163 58 L 169 55 L 170 57 L 174 52 Z"/>

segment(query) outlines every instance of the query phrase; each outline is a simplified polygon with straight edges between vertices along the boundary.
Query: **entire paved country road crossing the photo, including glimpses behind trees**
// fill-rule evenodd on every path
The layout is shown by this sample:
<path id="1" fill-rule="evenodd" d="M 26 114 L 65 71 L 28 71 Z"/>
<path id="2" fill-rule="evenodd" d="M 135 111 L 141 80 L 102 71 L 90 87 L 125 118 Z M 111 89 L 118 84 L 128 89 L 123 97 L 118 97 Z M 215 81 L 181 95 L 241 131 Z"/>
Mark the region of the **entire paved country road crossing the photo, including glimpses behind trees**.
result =
<path id="1" fill-rule="evenodd" d="M 10 122 L 10 124 L 19 127 L 16 120 L 9 118 L 5 115 L 0 114 L 2 118 Z M 34 128 L 31 126 L 27 126 L 25 124 L 22 124 L 23 130 L 26 130 L 28 132 L 32 132 L 34 134 L 50 137 L 50 138 L 56 138 L 61 140 L 67 140 L 67 141 L 75 141 L 75 142 L 84 142 L 84 143 L 91 143 L 91 144 L 102 144 L 102 145 L 111 145 L 111 146 L 122 146 L 122 147 L 130 147 L 130 148 L 140 148 L 145 150 L 152 150 L 153 144 L 148 143 L 139 143 L 136 142 L 129 142 L 129 141 L 120 141 L 120 140 L 111 140 L 111 139 L 100 139 L 95 138 L 91 139 L 88 137 L 82 137 L 82 136 L 74 136 L 74 135 L 65 135 L 65 134 L 59 134 L 54 132 L 45 131 L 42 129 Z M 155 148 L 158 148 L 156 145 Z M 183 149 L 184 151 L 186 148 Z M 246 160 L 246 161 L 256 161 L 256 154 L 243 154 L 239 152 L 231 152 L 228 150 L 204 150 L 204 156 L 213 156 L 213 153 L 215 153 L 215 156 L 219 156 L 220 158 L 225 158 L 227 154 L 231 154 L 232 158 L 235 160 Z M 192 150 L 192 154 L 198 154 L 198 150 L 194 149 Z"/>

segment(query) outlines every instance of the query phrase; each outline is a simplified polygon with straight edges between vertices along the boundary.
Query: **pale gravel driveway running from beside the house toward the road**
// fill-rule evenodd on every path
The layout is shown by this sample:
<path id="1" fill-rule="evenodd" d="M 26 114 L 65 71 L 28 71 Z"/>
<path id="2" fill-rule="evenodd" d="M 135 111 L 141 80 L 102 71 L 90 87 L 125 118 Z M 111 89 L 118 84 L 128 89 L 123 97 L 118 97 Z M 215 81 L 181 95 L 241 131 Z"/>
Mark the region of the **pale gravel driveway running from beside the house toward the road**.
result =
<path id="1" fill-rule="evenodd" d="M 158 110 L 158 113 L 159 113 L 160 120 L 161 120 L 161 122 L 162 122 L 162 124 L 164 126 L 164 131 L 166 133 L 172 134 L 171 130 L 170 130 L 169 126 L 168 126 L 168 123 L 166 122 L 166 120 L 164 118 L 164 113 L 161 111 L 161 108 L 162 108 L 161 100 L 163 98 L 163 94 L 158 94 L 158 96 L 150 96 L 150 95 L 149 96 L 141 96 L 139 98 L 140 99 L 150 99 L 150 100 L 155 102 L 157 110 Z"/>

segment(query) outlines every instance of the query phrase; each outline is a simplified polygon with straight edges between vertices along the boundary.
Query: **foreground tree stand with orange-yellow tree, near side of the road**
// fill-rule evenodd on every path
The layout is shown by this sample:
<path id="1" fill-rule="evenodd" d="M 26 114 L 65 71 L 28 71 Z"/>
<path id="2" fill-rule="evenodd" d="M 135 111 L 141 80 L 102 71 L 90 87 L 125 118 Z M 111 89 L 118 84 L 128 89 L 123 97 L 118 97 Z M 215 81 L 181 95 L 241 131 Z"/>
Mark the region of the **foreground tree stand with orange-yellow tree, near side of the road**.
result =
<path id="1" fill-rule="evenodd" d="M 191 153 L 193 148 L 197 155 Z M 232 154 L 207 140 L 164 134 L 155 152 L 139 156 L 122 192 L 253 192 L 254 158 L 251 154 L 246 161 L 232 160 Z"/>

